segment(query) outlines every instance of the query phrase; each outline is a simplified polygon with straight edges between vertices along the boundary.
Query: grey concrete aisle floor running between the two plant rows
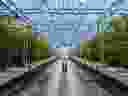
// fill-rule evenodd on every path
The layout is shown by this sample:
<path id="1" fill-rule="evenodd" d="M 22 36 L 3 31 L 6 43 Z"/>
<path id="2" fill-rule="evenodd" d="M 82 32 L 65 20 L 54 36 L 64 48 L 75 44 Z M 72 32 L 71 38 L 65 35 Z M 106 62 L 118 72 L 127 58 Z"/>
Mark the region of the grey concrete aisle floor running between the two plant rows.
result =
<path id="1" fill-rule="evenodd" d="M 67 72 L 62 72 L 63 64 Z M 80 79 L 80 76 L 84 79 Z M 70 60 L 65 63 L 58 60 L 47 68 L 44 75 L 40 72 L 21 92 L 22 95 L 18 96 L 111 96 L 104 89 L 99 88 L 94 79 L 95 77 L 89 72 L 82 73 L 82 70 Z"/>

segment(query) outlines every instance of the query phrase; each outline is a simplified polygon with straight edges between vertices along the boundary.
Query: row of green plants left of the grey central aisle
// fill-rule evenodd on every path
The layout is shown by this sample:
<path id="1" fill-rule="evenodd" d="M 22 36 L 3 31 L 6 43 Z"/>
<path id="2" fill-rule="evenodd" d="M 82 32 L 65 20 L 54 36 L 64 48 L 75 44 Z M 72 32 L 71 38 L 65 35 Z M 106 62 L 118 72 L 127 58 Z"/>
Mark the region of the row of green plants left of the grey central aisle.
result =
<path id="1" fill-rule="evenodd" d="M 30 48 L 33 61 L 48 58 L 47 38 L 33 38 L 32 25 L 17 24 L 14 16 L 0 16 L 0 48 Z"/>

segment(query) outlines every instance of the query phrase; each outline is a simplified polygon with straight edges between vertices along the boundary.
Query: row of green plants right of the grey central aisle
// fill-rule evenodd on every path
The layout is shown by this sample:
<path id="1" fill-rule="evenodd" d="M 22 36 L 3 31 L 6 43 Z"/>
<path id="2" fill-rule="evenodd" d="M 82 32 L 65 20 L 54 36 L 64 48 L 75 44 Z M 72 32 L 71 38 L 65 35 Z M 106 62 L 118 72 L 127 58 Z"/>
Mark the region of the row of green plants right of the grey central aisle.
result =
<path id="1" fill-rule="evenodd" d="M 96 32 L 94 40 L 81 40 L 81 58 L 100 64 L 128 64 L 128 16 L 113 16 L 112 29 Z"/>

